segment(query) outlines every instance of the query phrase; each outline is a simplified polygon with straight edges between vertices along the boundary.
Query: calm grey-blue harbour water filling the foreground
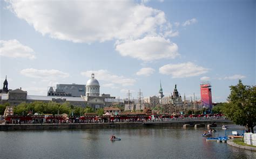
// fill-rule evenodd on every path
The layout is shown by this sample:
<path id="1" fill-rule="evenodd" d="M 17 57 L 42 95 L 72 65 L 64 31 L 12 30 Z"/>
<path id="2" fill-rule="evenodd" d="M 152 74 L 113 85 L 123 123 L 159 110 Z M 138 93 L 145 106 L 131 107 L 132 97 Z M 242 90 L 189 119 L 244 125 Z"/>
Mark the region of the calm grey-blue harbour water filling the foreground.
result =
<path id="1" fill-rule="evenodd" d="M 223 129 L 215 129 L 213 137 L 224 135 Z M 204 131 L 181 127 L 2 131 L 0 158 L 256 158 L 255 151 L 206 141 Z M 111 134 L 122 140 L 110 141 Z"/>

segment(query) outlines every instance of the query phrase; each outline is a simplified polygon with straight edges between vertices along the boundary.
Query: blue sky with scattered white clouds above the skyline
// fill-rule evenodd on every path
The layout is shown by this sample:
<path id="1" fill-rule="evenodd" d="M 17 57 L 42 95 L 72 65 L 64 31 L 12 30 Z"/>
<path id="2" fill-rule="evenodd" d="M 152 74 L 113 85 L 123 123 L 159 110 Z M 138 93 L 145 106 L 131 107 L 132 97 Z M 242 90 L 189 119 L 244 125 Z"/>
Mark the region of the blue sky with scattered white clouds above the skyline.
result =
<path id="1" fill-rule="evenodd" d="M 56 84 L 86 84 L 117 98 L 170 96 L 174 85 L 213 102 L 230 85 L 255 85 L 256 3 L 234 1 L 1 0 L 0 71 L 9 89 L 47 95 Z"/>

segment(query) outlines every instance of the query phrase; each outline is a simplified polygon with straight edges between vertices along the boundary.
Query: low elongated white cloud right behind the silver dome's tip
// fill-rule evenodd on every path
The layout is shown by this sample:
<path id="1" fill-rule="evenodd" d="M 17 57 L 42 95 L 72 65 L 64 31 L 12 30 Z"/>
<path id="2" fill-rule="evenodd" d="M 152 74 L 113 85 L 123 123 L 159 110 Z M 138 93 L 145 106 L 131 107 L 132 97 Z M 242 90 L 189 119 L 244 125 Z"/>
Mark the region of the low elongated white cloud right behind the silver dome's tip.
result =
<path id="1" fill-rule="evenodd" d="M 91 77 L 92 73 L 95 74 L 95 78 L 98 79 L 99 81 L 106 81 L 113 84 L 120 84 L 122 86 L 133 85 L 136 82 L 135 79 L 126 78 L 124 76 L 113 75 L 107 70 L 85 71 L 85 72 L 82 72 L 81 75 L 86 77 Z"/>

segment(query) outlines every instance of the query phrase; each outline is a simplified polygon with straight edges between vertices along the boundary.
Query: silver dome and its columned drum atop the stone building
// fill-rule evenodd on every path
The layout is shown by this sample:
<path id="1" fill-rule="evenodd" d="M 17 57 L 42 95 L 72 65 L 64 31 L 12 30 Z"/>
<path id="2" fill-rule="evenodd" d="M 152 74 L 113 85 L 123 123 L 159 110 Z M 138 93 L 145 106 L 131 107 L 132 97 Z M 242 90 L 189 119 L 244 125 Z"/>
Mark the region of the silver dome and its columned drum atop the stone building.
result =
<path id="1" fill-rule="evenodd" d="M 86 83 L 86 96 L 99 97 L 99 82 L 94 74 L 91 75 L 91 79 Z"/>

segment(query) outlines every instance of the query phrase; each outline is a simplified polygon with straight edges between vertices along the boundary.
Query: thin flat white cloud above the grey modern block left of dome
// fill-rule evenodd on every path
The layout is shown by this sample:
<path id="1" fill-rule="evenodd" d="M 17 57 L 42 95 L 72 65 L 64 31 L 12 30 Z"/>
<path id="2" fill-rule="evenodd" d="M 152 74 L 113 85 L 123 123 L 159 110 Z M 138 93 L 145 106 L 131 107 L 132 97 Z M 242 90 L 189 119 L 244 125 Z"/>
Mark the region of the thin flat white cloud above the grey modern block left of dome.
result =
<path id="1" fill-rule="evenodd" d="M 56 78 L 66 78 L 69 77 L 68 73 L 63 73 L 62 71 L 51 69 L 51 70 L 38 70 L 38 69 L 23 69 L 21 74 L 26 77 L 41 78 L 42 80 L 49 81 Z"/>

